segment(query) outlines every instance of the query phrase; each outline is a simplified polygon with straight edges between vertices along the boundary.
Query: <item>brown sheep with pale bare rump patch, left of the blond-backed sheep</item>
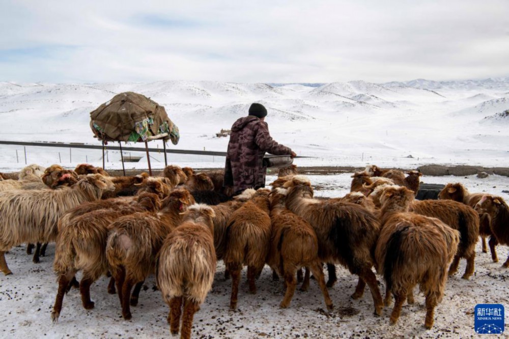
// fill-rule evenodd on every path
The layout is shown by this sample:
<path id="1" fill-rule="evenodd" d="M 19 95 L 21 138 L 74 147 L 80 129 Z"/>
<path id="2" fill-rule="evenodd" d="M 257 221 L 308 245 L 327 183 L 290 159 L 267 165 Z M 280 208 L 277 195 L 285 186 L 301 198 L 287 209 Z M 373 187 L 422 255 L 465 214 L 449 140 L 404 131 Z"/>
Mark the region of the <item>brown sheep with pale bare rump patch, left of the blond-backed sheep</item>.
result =
<path id="1" fill-rule="evenodd" d="M 155 271 L 156 255 L 166 236 L 180 224 L 181 213 L 189 203 L 189 191 L 175 189 L 164 200 L 159 213 L 134 213 L 109 225 L 106 258 L 117 284 L 124 319 L 132 318 L 130 305 L 138 302 L 137 294 L 131 298 L 132 287 L 143 284 Z"/>

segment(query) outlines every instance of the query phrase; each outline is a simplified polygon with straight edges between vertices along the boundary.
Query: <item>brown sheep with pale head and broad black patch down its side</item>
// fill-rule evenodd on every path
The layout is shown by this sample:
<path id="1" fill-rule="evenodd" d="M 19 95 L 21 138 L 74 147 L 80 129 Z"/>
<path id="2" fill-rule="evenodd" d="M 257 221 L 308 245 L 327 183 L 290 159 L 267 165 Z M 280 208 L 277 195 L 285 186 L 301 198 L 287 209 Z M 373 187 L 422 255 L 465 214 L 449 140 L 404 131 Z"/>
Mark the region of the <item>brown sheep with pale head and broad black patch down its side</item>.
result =
<path id="1" fill-rule="evenodd" d="M 285 184 L 287 208 L 309 222 L 318 237 L 318 256 L 325 263 L 340 263 L 360 278 L 353 298 L 362 296 L 364 286 L 371 289 L 375 314 L 381 315 L 383 302 L 372 267 L 380 222 L 365 208 L 341 201 L 313 199 L 313 188 L 303 176 Z"/>

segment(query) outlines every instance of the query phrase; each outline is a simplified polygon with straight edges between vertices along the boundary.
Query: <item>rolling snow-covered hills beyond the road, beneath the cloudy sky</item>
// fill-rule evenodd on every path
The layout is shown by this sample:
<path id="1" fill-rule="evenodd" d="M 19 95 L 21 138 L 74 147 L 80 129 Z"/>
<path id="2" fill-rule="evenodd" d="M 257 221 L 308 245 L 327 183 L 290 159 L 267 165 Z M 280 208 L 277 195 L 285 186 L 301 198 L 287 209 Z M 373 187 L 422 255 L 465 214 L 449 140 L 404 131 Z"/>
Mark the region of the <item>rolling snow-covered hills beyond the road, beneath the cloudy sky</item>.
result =
<path id="1" fill-rule="evenodd" d="M 509 77 L 318 85 L 180 80 L 0 82 L 2 139 L 97 145 L 89 127 L 89 112 L 117 93 L 133 91 L 165 106 L 180 128 L 180 143 L 171 146 L 178 149 L 225 151 L 228 139 L 215 134 L 246 115 L 251 102 L 260 102 L 269 111 L 266 121 L 273 138 L 297 154 L 316 157 L 316 164 L 400 161 L 406 165 L 413 161 L 509 165 L 506 143 L 486 145 L 490 136 L 500 140 L 508 137 L 509 131 L 503 126 L 493 129 L 499 120 L 489 124 L 484 120 L 509 108 Z M 475 135 L 486 136 L 482 150 L 471 142 Z M 489 154 L 483 151 L 486 149 Z M 38 150 L 37 154 L 45 152 Z M 2 153 L 0 159 L 6 166 L 16 161 L 14 152 Z M 412 159 L 406 158 L 408 155 L 413 160 L 408 160 Z M 120 158 L 120 154 L 112 157 Z M 86 158 L 99 161 L 100 154 L 89 152 Z"/>

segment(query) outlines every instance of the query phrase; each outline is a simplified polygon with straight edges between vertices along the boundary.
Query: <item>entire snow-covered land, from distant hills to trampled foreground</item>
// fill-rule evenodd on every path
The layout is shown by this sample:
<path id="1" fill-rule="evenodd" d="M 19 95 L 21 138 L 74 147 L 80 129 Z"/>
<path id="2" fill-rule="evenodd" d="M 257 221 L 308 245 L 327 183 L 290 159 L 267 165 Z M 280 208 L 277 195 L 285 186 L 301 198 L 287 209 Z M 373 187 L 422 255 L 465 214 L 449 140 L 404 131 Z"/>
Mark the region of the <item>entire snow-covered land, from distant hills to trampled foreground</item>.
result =
<path id="1" fill-rule="evenodd" d="M 435 82 L 414 80 L 374 84 L 364 81 L 267 86 L 210 81 L 161 81 L 153 83 L 13 84 L 0 82 L 0 118 L 3 140 L 84 142 L 99 145 L 92 137 L 89 112 L 123 91 L 135 91 L 166 107 L 179 126 L 176 149 L 225 151 L 228 139 L 215 137 L 221 128 L 247 112 L 251 102 L 263 103 L 267 122 L 278 142 L 299 155 L 298 166 L 364 166 L 416 168 L 422 164 L 509 165 L 509 78 Z M 131 145 L 132 146 L 132 145 Z M 156 147 L 152 142 L 150 147 Z M 162 145 L 159 145 L 162 148 Z M 61 163 L 74 168 L 81 162 L 102 165 L 100 151 L 0 146 L 0 172 L 17 171 L 27 163 Z M 128 153 L 128 152 L 127 152 Z M 128 154 L 126 154 L 128 155 Z M 134 155 L 134 154 L 133 154 Z M 143 155 L 140 153 L 138 155 Z M 162 168 L 161 153 L 151 154 L 152 166 Z M 409 157 L 411 156 L 411 157 Z M 224 158 L 168 155 L 169 163 L 196 168 L 222 167 Z M 126 164 L 147 168 L 146 159 Z M 106 170 L 120 169 L 119 152 L 108 152 Z M 318 196 L 343 196 L 349 191 L 351 174 L 309 176 L 320 186 Z M 273 173 L 267 183 L 274 179 Z M 423 177 L 426 183 L 462 182 L 472 192 L 487 192 L 509 199 L 509 178 L 492 175 L 468 177 Z M 146 281 L 133 319 L 121 318 L 116 295 L 106 292 L 108 279 L 92 286 L 95 309 L 84 310 L 79 293 L 64 299 L 57 324 L 50 321 L 56 295 L 56 277 L 51 264 L 54 245 L 40 264 L 33 264 L 25 248 L 13 248 L 6 256 L 14 272 L 0 276 L 0 337 L 167 337 L 168 307 L 160 292 L 153 291 L 154 277 Z M 500 260 L 507 247 L 498 246 Z M 459 272 L 464 271 L 465 262 Z M 436 309 L 435 325 L 423 328 L 424 298 L 405 305 L 398 324 L 389 326 L 391 307 L 382 317 L 373 315 L 369 291 L 360 300 L 350 299 L 356 276 L 338 271 L 330 289 L 335 309 L 325 304 L 312 281 L 307 292 L 297 291 L 291 307 L 279 309 L 284 294 L 282 282 L 271 279 L 266 267 L 257 282 L 257 295 L 242 285 L 239 309 L 229 310 L 231 281 L 223 280 L 219 263 L 214 286 L 195 315 L 195 337 L 467 337 L 475 336 L 473 310 L 478 303 L 509 305 L 506 279 L 509 270 L 492 263 L 477 247 L 476 273 L 470 280 L 451 277 L 446 295 Z M 245 271 L 243 276 L 245 281 Z M 379 277 L 380 289 L 384 283 Z"/>

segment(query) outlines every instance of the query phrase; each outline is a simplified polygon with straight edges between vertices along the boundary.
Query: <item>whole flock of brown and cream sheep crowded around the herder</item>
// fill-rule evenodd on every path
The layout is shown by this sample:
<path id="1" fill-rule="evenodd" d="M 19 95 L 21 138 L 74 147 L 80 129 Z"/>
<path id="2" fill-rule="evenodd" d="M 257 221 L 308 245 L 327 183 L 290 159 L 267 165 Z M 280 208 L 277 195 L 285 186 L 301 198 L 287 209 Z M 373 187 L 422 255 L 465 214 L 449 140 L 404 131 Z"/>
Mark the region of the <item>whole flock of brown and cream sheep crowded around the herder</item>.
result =
<path id="1" fill-rule="evenodd" d="M 462 277 L 474 273 L 479 235 L 485 252 L 490 236 L 498 261 L 495 246 L 509 244 L 509 209 L 500 196 L 469 193 L 460 183 L 447 184 L 440 200 L 418 201 L 419 177 L 416 171 L 405 176 L 370 165 L 352 176 L 346 196 L 317 199 L 295 165 L 279 171 L 272 189 L 237 196 L 222 187 L 222 171 L 195 173 L 171 165 L 154 177 L 111 177 L 89 164 L 75 170 L 30 165 L 17 175 L 1 174 L 0 269 L 12 273 L 5 253 L 13 246 L 26 243 L 30 252 L 37 244 L 38 262 L 44 244 L 55 242 L 53 322 L 73 287 L 83 307 L 93 308 L 90 287 L 102 275 L 110 276 L 108 292 L 118 294 L 122 316 L 131 319 L 130 306 L 155 273 L 170 308 L 171 332 L 180 328 L 188 338 L 218 260 L 232 280 L 231 309 L 239 302 L 242 268 L 247 266 L 249 292 L 256 293 L 256 279 L 269 265 L 274 279 L 285 281 L 280 307 L 290 306 L 298 281 L 307 289 L 313 273 L 331 310 L 327 288 L 336 281 L 334 264 L 341 264 L 358 275 L 352 298 L 360 298 L 367 285 L 376 315 L 394 296 L 390 323 L 397 322 L 405 301 L 414 302 L 419 285 L 426 297 L 425 326 L 431 328 L 447 276 L 456 273 L 461 258 L 467 261 Z M 385 280 L 384 299 L 373 268 Z"/>

